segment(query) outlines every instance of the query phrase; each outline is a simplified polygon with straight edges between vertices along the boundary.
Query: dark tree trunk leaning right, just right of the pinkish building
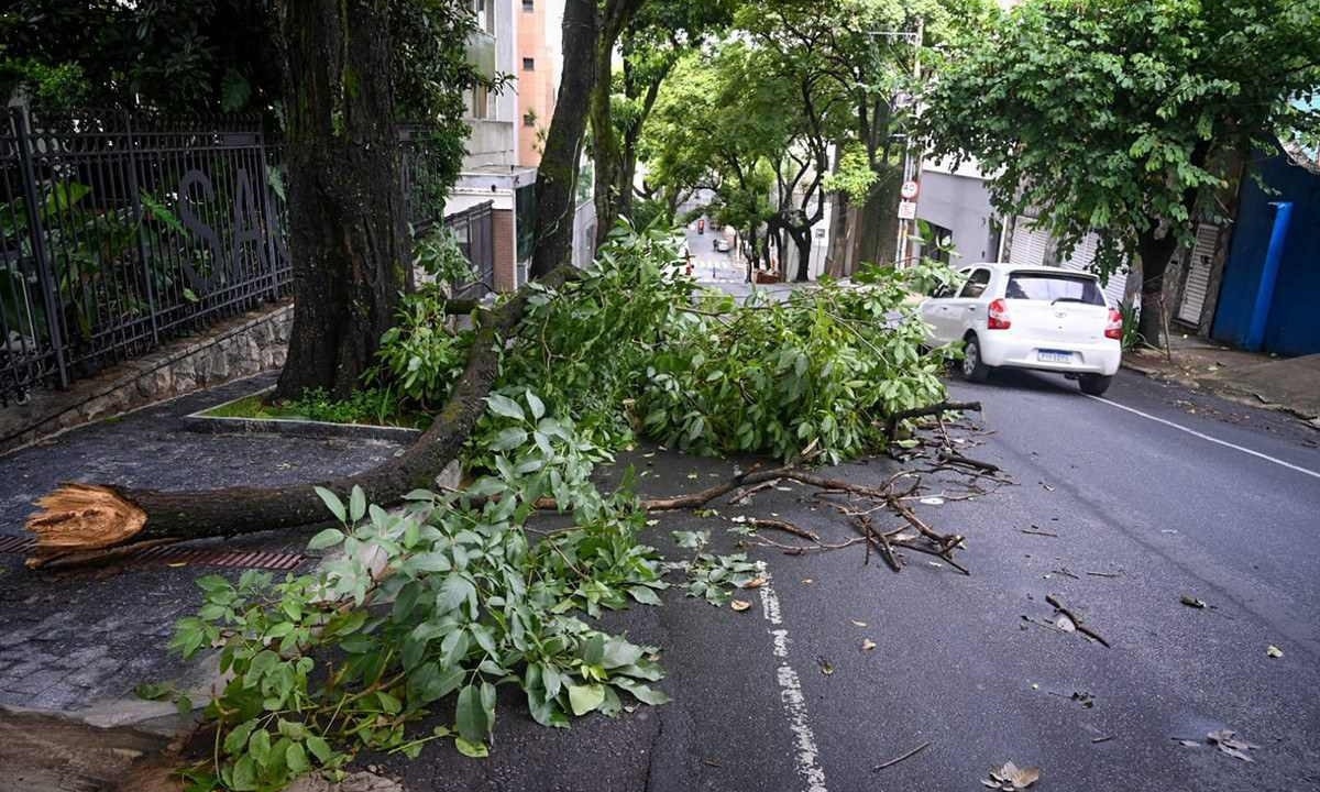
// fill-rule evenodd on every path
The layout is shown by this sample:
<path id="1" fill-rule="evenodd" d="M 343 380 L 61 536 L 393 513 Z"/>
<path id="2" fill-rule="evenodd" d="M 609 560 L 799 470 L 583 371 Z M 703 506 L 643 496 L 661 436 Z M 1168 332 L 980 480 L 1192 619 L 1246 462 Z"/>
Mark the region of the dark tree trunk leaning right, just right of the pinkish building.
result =
<path id="1" fill-rule="evenodd" d="M 595 1 L 568 0 L 564 9 L 564 79 L 536 176 L 532 277 L 541 277 L 573 260 L 578 160 L 586 132 L 587 103 L 595 84 L 598 32 Z"/>

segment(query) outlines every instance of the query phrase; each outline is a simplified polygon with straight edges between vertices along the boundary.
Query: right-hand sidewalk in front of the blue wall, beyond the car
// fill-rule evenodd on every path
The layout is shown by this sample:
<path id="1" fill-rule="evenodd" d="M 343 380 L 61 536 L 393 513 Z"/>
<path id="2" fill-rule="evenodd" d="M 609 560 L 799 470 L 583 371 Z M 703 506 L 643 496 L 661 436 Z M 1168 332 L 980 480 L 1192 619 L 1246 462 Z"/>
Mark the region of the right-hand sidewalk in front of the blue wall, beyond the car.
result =
<path id="1" fill-rule="evenodd" d="M 1123 352 L 1123 367 L 1288 412 L 1320 429 L 1320 355 L 1272 358 L 1192 337 L 1175 337 L 1170 346 Z"/>

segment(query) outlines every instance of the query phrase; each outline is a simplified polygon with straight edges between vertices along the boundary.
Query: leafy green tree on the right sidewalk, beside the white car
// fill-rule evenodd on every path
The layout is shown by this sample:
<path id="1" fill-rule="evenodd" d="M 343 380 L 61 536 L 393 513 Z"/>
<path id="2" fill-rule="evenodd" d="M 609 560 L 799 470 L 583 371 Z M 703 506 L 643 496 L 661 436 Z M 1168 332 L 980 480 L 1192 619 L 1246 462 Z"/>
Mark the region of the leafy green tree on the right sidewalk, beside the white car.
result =
<path id="1" fill-rule="evenodd" d="M 1320 121 L 1294 103 L 1320 86 L 1317 29 L 1317 0 L 1035 0 L 948 50 L 923 135 L 977 157 L 995 207 L 1036 214 L 1063 252 L 1096 230 L 1098 272 L 1135 256 L 1154 342 L 1164 271 L 1230 154 Z"/>

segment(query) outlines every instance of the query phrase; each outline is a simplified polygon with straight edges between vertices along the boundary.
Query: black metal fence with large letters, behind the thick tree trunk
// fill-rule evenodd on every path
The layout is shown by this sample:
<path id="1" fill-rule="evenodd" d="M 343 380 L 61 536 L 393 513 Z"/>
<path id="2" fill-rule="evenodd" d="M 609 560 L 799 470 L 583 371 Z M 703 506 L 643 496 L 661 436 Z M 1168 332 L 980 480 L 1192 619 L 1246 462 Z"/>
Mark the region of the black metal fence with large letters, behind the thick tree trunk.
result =
<path id="1" fill-rule="evenodd" d="M 442 213 L 424 132 L 400 129 L 417 231 Z M 256 120 L 11 108 L 0 123 L 0 404 L 288 293 L 280 150 Z M 486 222 L 483 239 L 488 209 Z M 488 257 L 488 242 L 469 244 Z"/>

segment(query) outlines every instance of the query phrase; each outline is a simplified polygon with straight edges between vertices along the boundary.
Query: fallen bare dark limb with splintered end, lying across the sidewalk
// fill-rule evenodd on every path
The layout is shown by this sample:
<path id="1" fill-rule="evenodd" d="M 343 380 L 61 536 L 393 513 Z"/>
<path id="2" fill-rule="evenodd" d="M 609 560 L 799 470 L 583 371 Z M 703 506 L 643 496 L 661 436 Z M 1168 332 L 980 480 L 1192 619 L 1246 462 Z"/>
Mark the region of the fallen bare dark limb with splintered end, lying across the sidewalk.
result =
<path id="1" fill-rule="evenodd" d="M 577 277 L 576 268 L 562 264 L 536 284 L 558 289 Z M 412 490 L 429 487 L 458 457 L 486 412 L 486 396 L 499 372 L 504 339 L 521 322 L 531 294 L 529 284 L 503 305 L 482 314 L 467 364 L 449 401 L 417 442 L 371 470 L 318 484 L 341 495 L 358 486 L 372 503 L 381 506 L 397 503 Z M 41 511 L 28 517 L 28 529 L 37 535 L 37 548 L 28 566 L 40 568 L 69 553 L 137 541 L 232 536 L 323 523 L 326 508 L 313 486 L 165 492 L 114 484 L 65 484 L 41 498 L 37 502 Z"/>

